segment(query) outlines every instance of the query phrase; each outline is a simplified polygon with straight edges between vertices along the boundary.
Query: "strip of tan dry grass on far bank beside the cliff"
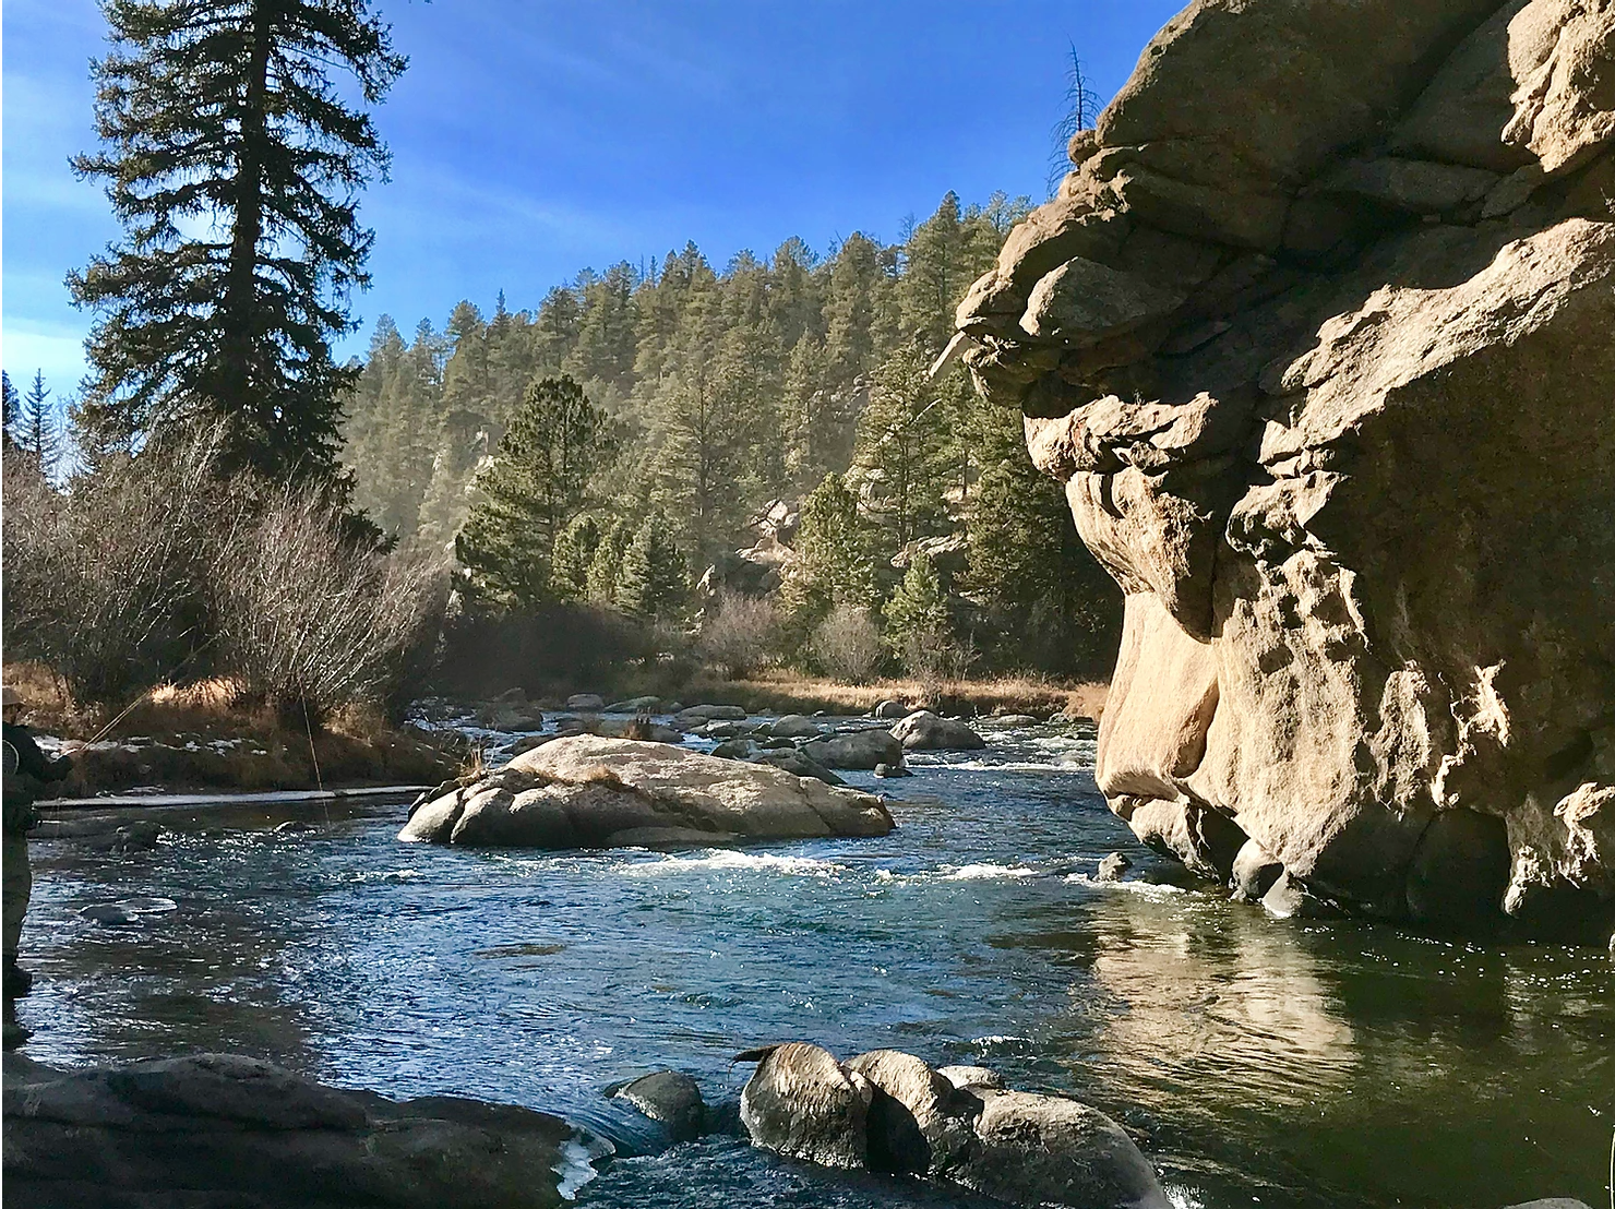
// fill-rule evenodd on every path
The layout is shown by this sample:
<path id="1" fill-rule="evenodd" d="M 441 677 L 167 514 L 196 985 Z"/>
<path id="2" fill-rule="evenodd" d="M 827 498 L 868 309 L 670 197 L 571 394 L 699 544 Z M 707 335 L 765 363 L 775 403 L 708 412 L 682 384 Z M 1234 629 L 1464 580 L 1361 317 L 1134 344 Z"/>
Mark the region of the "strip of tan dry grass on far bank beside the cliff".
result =
<path id="1" fill-rule="evenodd" d="M 919 680 L 880 680 L 874 684 L 843 684 L 833 680 L 791 676 L 778 673 L 754 680 L 703 680 L 691 681 L 682 697 L 686 704 L 698 701 L 732 702 L 751 710 L 811 713 L 867 713 L 887 699 L 908 705 L 925 705 L 956 713 L 1037 713 L 1059 710 L 1085 718 L 1098 718 L 1105 712 L 1105 694 L 1110 686 L 1100 681 L 1061 683 L 1032 676 L 1000 676 L 995 680 L 950 680 L 925 683 Z"/>

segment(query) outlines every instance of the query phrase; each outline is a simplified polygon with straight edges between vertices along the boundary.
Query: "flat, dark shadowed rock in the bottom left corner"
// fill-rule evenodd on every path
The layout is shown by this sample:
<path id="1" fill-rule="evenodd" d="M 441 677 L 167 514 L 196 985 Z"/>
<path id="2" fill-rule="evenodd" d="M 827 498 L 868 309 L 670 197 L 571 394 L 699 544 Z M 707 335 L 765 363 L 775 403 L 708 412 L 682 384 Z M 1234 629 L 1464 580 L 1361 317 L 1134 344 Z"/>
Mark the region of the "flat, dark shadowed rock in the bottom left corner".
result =
<path id="1" fill-rule="evenodd" d="M 231 1054 L 71 1072 L 5 1057 L 18 1204 L 559 1206 L 581 1157 L 572 1127 L 543 1112 L 401 1104 Z"/>

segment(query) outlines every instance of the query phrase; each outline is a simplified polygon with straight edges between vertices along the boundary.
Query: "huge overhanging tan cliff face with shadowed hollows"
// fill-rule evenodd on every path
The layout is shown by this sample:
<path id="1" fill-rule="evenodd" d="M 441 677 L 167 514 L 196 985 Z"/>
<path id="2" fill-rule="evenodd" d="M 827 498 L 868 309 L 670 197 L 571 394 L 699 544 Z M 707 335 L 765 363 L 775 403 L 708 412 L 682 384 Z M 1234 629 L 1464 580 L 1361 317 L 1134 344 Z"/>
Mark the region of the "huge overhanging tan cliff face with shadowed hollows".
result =
<path id="1" fill-rule="evenodd" d="M 1615 0 L 1202 0 L 975 282 L 956 350 L 1127 592 L 1147 843 L 1609 938 L 1612 149 Z"/>

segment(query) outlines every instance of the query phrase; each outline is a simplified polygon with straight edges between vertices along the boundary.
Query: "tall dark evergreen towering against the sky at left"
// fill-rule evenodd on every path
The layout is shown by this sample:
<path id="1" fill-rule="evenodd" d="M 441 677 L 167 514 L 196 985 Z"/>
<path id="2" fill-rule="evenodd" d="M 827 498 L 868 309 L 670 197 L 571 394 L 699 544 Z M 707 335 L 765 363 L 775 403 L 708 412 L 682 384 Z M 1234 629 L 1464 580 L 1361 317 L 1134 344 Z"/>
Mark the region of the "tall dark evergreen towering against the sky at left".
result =
<path id="1" fill-rule="evenodd" d="M 103 0 L 105 149 L 74 169 L 105 178 L 126 237 L 69 287 L 99 313 L 82 415 L 108 439 L 216 416 L 226 468 L 334 471 L 355 373 L 329 339 L 350 331 L 347 297 L 370 282 L 355 194 L 388 155 L 331 69 L 375 105 L 405 66 L 367 8 Z"/>

